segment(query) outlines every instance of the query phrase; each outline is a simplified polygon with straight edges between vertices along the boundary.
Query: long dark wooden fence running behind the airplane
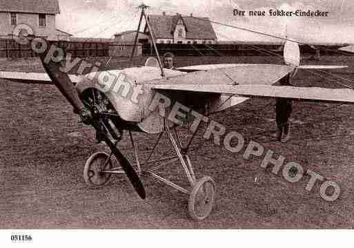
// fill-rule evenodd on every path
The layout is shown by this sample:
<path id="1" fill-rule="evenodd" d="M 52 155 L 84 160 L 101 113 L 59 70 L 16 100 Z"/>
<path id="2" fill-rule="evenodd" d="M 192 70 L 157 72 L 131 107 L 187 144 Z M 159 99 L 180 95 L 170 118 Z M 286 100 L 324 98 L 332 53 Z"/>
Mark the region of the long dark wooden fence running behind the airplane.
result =
<path id="1" fill-rule="evenodd" d="M 119 57 L 129 56 L 132 44 L 117 44 L 104 41 L 54 41 L 53 44 L 63 48 L 72 57 Z M 339 46 L 318 47 L 321 55 L 336 55 L 344 52 L 336 52 Z M 166 52 L 177 56 L 268 56 L 282 55 L 280 45 L 257 44 L 157 44 L 160 55 Z M 317 51 L 309 46 L 300 46 L 301 55 L 316 55 Z M 135 55 L 155 55 L 155 50 L 150 44 L 139 44 Z M 348 53 L 348 55 L 351 55 Z M 21 45 L 13 39 L 0 39 L 0 58 L 36 57 L 30 44 Z"/>

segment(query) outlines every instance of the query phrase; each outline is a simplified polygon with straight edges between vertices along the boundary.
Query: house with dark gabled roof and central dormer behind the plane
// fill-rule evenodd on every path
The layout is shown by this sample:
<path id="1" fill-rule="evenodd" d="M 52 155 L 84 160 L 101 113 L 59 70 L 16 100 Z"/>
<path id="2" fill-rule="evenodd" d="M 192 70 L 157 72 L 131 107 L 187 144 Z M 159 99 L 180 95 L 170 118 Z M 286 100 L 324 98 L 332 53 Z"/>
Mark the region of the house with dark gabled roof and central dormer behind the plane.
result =
<path id="1" fill-rule="evenodd" d="M 217 36 L 208 17 L 149 15 L 148 20 L 158 44 L 215 44 Z M 145 33 L 149 33 L 145 26 Z"/>

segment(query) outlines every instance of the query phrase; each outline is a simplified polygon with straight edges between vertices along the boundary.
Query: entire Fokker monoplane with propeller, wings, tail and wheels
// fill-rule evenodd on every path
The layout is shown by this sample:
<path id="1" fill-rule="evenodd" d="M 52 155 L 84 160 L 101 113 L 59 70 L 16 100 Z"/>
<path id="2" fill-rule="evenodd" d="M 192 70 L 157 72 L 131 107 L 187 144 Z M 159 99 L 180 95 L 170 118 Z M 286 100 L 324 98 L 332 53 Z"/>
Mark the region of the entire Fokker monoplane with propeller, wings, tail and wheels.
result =
<path id="1" fill-rule="evenodd" d="M 208 176 L 196 178 L 188 151 L 204 114 L 224 111 L 246 101 L 248 97 L 284 97 L 315 102 L 354 103 L 354 90 L 351 89 L 275 85 L 279 79 L 295 73 L 296 70 L 344 67 L 301 66 L 299 46 L 295 41 L 286 41 L 284 45 L 284 65 L 213 64 L 188 66 L 179 70 L 163 68 L 144 8 L 141 10 L 142 17 L 145 17 L 148 29 L 151 30 L 150 38 L 157 55 L 155 60 L 150 59 L 147 62 L 147 66 L 83 76 L 68 75 L 61 70 L 61 61 L 57 59 L 48 61 L 48 45 L 46 52 L 39 55 L 46 73 L 0 72 L 0 78 L 14 82 L 55 84 L 83 123 L 95 128 L 97 139 L 106 142 L 111 152 L 95 153 L 87 160 L 83 178 L 90 186 L 101 186 L 110 180 L 111 175 L 124 174 L 139 196 L 144 199 L 146 192 L 140 178 L 150 175 L 186 193 L 189 196 L 190 217 L 194 220 L 203 220 L 210 214 L 215 202 L 215 182 Z M 197 110 L 203 112 L 198 113 Z M 188 144 L 182 146 L 176 127 L 187 120 L 193 122 L 191 130 L 194 134 Z M 117 147 L 124 131 L 128 131 L 134 148 L 136 158 L 134 166 Z M 132 132 L 159 133 L 144 164 L 139 160 Z M 164 163 L 148 168 L 149 164 L 154 164 L 150 158 L 164 133 L 167 134 L 176 155 Z M 189 187 L 181 187 L 157 173 L 161 166 L 176 161 L 183 167 Z"/>

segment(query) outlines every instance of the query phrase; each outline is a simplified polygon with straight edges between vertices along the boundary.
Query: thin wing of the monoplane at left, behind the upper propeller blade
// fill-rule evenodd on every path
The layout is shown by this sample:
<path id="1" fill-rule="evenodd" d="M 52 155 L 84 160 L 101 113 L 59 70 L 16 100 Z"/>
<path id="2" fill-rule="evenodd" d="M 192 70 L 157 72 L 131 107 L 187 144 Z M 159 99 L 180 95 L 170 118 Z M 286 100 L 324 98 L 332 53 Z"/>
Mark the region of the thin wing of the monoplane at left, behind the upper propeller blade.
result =
<path id="1" fill-rule="evenodd" d="M 83 76 L 69 75 L 70 80 L 77 84 Z M 23 84 L 53 84 L 47 73 L 19 73 L 10 71 L 0 71 L 0 79 L 7 79 Z"/>

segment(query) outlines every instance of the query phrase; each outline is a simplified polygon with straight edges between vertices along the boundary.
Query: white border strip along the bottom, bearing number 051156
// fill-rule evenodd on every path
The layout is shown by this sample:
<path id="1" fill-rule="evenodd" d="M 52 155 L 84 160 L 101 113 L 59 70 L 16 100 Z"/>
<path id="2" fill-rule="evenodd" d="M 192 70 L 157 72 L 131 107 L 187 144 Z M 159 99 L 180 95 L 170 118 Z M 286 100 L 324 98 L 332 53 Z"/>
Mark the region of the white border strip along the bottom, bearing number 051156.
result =
<path id="1" fill-rule="evenodd" d="M 12 234 L 32 236 L 12 242 Z M 349 230 L 3 230 L 1 247 L 336 247 L 352 241 Z M 4 246 L 3 246 L 4 245 Z"/>

